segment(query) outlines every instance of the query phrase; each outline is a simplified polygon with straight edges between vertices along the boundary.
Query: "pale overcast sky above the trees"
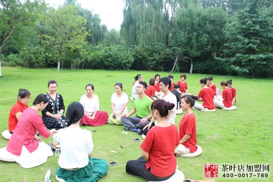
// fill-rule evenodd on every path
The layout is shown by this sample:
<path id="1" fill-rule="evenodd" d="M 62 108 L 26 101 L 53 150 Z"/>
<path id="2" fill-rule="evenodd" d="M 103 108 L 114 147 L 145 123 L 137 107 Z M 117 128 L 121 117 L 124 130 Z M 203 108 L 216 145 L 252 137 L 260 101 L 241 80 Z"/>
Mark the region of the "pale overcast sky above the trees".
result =
<path id="1" fill-rule="evenodd" d="M 45 0 L 50 6 L 58 8 L 65 0 Z M 101 23 L 106 24 L 107 29 L 120 30 L 123 21 L 123 0 L 76 0 L 81 7 L 93 10 L 93 14 L 99 14 Z"/>

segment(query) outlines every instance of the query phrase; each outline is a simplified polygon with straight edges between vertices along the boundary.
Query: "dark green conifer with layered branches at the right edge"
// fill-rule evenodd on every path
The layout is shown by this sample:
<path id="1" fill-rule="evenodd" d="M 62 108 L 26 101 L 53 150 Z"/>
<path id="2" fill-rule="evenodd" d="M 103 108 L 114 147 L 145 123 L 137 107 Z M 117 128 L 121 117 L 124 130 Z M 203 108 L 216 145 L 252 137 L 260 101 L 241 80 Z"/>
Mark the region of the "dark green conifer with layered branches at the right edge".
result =
<path id="1" fill-rule="evenodd" d="M 263 14 L 259 0 L 248 0 L 227 26 L 227 43 L 223 58 L 232 71 L 240 75 L 265 76 L 273 71 L 272 17 Z M 267 73 L 266 73 L 267 72 Z"/>

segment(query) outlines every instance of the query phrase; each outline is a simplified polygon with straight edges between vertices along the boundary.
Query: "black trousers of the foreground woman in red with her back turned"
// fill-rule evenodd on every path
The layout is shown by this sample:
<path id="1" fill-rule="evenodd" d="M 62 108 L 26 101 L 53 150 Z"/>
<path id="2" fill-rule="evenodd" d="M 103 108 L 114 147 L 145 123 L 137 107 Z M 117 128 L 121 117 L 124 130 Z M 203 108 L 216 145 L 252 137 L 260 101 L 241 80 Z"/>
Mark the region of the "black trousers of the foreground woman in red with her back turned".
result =
<path id="1" fill-rule="evenodd" d="M 137 160 L 128 161 L 126 164 L 126 173 L 130 175 L 134 175 L 134 176 L 139 176 L 145 180 L 154 181 L 154 182 L 161 182 L 164 180 L 168 180 L 174 174 L 173 173 L 172 175 L 168 177 L 164 177 L 164 178 L 157 177 L 151 174 L 150 168 L 146 170 L 146 167 L 145 167 L 146 163 L 147 161 L 143 157 L 139 157 Z"/>

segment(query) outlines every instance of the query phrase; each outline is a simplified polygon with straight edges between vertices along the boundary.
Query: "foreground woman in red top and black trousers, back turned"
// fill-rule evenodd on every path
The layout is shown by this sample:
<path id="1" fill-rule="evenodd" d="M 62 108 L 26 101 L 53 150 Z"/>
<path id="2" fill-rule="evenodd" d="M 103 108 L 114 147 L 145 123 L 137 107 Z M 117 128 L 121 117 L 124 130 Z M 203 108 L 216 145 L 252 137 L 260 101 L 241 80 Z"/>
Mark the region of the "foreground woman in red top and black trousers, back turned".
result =
<path id="1" fill-rule="evenodd" d="M 173 154 L 179 143 L 178 132 L 176 126 L 166 120 L 173 108 L 173 103 L 162 99 L 152 103 L 152 117 L 157 120 L 157 125 L 149 130 L 140 145 L 142 157 L 127 162 L 127 173 L 148 181 L 164 181 L 175 173 L 176 158 Z"/>

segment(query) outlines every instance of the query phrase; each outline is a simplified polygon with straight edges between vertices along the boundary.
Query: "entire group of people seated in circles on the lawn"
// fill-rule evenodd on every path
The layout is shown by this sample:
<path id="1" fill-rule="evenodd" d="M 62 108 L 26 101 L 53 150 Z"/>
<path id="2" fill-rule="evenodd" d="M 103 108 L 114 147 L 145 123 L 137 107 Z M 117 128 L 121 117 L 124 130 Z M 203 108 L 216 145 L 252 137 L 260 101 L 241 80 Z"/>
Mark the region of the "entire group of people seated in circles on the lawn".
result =
<path id="1" fill-rule="evenodd" d="M 137 132 L 144 138 L 140 146 L 142 157 L 136 161 L 128 161 L 126 172 L 149 181 L 167 180 L 176 171 L 174 153 L 178 156 L 196 153 L 197 156 L 202 152 L 197 145 L 196 118 L 192 108 L 212 110 L 214 104 L 224 108 L 236 102 L 236 90 L 232 87 L 232 80 L 221 82 L 224 89 L 221 93 L 222 99 L 217 96 L 212 78 L 200 80 L 203 89 L 198 96 L 187 93 L 189 89 L 185 80 L 186 75 L 183 74 L 181 80 L 174 84 L 172 75 L 160 78 L 156 74 L 150 79 L 148 86 L 140 74 L 136 75 L 131 97 L 134 107 L 129 113 L 128 96 L 123 92 L 123 84 L 116 83 L 115 93 L 111 96 L 112 113 L 109 118 L 105 111 L 99 111 L 99 98 L 93 93 L 92 84 L 86 85 L 86 94 L 81 96 L 79 103 L 73 102 L 68 106 L 67 117 L 64 116 L 63 97 L 56 92 L 58 84 L 55 80 L 48 82 L 48 93 L 39 94 L 31 108 L 27 105 L 30 92 L 20 89 L 18 101 L 10 110 L 8 132 L 11 136 L 5 151 L 23 168 L 39 166 L 53 155 L 50 146 L 39 135 L 48 138 L 58 133 L 57 138 L 62 148 L 58 162 L 60 167 L 56 172 L 59 180 L 98 180 L 106 175 L 107 162 L 91 157 L 94 148 L 92 134 L 81 129 L 80 125 L 97 126 L 106 122 L 123 124 L 124 129 Z M 134 97 L 133 89 L 136 93 Z M 200 99 L 203 101 L 202 105 L 196 102 Z M 178 132 L 175 118 L 180 107 L 185 115 L 179 123 Z M 42 117 L 37 111 L 42 112 Z M 136 116 L 130 117 L 134 114 Z M 170 161 L 166 166 L 167 159 Z"/>

